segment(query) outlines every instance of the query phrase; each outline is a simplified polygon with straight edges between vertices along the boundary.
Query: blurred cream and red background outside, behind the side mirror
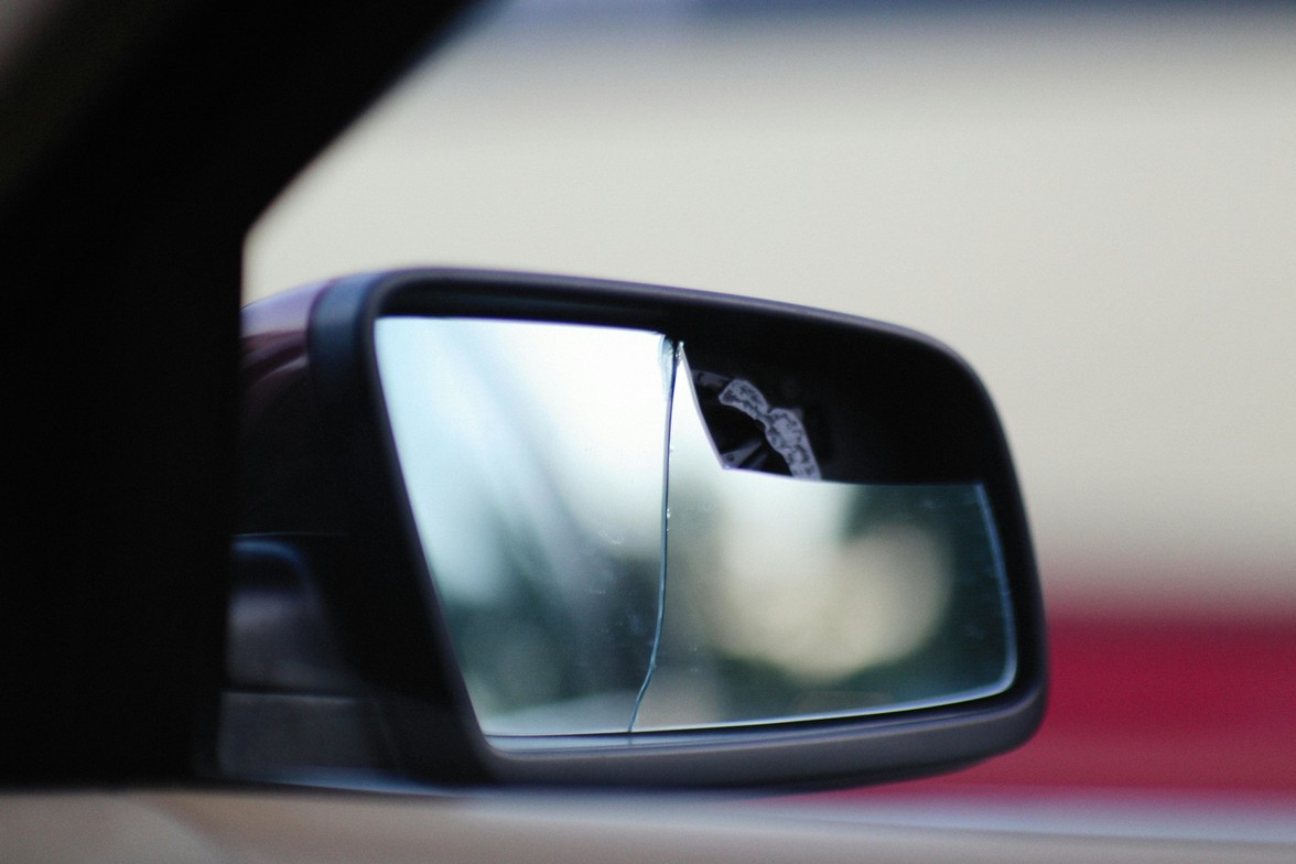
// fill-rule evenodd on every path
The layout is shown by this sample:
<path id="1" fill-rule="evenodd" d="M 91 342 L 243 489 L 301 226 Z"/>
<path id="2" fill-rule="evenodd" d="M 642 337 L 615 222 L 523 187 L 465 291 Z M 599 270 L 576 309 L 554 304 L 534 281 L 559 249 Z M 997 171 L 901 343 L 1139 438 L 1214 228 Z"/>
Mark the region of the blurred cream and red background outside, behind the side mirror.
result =
<path id="1" fill-rule="evenodd" d="M 424 264 L 820 306 L 981 373 L 1050 716 L 853 806 L 1296 798 L 1296 9 L 487 5 L 264 215 L 245 298 Z"/>

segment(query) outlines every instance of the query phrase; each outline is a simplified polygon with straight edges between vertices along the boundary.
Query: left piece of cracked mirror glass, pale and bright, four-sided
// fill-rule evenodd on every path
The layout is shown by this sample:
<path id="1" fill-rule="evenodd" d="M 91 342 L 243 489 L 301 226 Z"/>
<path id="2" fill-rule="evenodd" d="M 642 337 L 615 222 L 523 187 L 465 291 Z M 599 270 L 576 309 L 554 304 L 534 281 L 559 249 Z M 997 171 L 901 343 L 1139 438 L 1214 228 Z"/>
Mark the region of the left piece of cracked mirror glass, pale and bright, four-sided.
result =
<path id="1" fill-rule="evenodd" d="M 377 323 L 429 570 L 487 733 L 623 732 L 657 628 L 661 335 Z"/>

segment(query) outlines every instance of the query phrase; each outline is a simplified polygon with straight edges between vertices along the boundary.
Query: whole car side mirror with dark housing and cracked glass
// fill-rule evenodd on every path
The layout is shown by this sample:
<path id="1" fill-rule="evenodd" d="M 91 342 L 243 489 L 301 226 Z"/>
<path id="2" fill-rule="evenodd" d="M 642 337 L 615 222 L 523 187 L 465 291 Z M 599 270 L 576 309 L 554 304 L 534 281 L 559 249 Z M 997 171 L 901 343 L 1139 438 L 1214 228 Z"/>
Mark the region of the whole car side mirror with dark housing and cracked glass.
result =
<path id="1" fill-rule="evenodd" d="M 224 776 L 846 785 L 1041 720 L 1008 449 L 925 337 L 403 271 L 248 307 L 244 380 Z"/>

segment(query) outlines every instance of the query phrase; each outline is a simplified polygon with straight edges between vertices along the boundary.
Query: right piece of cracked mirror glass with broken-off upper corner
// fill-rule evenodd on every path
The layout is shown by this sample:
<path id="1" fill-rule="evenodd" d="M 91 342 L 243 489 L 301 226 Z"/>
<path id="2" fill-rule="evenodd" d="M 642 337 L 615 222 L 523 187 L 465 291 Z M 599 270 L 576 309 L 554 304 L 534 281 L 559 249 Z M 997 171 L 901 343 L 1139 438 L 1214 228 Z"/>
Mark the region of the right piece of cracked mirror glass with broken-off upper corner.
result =
<path id="1" fill-rule="evenodd" d="M 691 386 L 702 377 L 682 373 L 674 394 L 665 626 L 635 729 L 1006 688 L 1015 658 L 984 491 L 726 469 Z"/>

